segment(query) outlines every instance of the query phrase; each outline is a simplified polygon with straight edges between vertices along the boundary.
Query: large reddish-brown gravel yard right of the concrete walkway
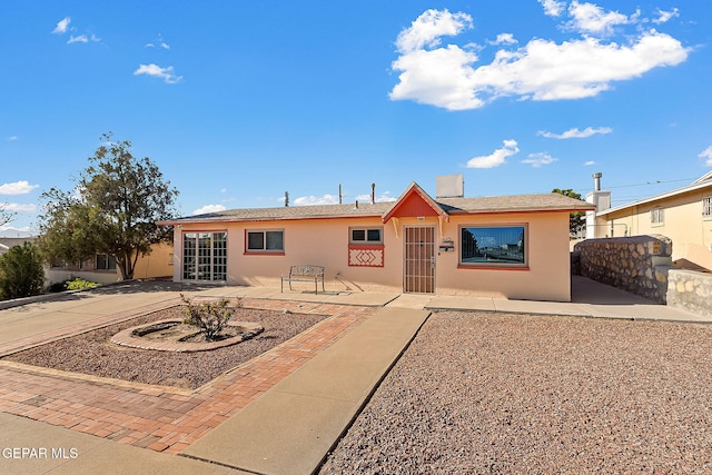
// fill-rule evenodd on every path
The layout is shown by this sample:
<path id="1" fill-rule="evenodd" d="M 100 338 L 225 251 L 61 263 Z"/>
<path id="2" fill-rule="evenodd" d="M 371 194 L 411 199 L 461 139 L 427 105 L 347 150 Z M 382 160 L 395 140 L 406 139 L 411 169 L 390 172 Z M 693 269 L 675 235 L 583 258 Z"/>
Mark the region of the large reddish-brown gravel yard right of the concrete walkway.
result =
<path id="1" fill-rule="evenodd" d="M 433 314 L 322 473 L 712 473 L 712 326 Z"/>

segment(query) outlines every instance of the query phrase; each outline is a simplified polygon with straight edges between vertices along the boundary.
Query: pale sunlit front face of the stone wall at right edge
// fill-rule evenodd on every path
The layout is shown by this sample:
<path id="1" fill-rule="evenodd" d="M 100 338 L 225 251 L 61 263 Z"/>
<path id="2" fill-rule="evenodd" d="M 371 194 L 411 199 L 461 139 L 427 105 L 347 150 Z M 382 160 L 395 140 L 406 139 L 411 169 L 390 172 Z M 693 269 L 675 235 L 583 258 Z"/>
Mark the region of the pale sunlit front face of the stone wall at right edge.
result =
<path id="1" fill-rule="evenodd" d="M 712 274 L 670 269 L 668 305 L 712 317 Z"/>

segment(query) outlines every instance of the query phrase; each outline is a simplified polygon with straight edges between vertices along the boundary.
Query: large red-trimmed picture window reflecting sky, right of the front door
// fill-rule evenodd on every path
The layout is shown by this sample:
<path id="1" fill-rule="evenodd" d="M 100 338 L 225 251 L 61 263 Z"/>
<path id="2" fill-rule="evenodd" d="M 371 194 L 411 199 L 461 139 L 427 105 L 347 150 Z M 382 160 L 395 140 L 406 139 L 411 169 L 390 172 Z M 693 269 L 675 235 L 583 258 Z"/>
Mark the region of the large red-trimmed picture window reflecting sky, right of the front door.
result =
<path id="1" fill-rule="evenodd" d="M 526 226 L 464 226 L 459 263 L 473 267 L 525 267 Z"/>

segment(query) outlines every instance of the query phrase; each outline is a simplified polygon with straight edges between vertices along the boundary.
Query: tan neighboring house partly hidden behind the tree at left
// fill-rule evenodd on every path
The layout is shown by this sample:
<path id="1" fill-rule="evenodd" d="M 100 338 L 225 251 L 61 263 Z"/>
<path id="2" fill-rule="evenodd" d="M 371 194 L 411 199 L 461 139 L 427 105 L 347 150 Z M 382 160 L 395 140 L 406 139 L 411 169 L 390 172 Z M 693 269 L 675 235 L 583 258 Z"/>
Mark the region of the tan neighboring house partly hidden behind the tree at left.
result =
<path id="1" fill-rule="evenodd" d="M 174 248 L 169 244 L 154 246 L 151 254 L 139 256 L 134 271 L 135 279 L 170 277 Z M 113 256 L 97 254 L 80 264 L 56 263 L 46 270 L 50 284 L 73 278 L 82 278 L 99 284 L 111 284 L 121 280 Z"/>

